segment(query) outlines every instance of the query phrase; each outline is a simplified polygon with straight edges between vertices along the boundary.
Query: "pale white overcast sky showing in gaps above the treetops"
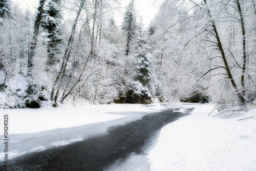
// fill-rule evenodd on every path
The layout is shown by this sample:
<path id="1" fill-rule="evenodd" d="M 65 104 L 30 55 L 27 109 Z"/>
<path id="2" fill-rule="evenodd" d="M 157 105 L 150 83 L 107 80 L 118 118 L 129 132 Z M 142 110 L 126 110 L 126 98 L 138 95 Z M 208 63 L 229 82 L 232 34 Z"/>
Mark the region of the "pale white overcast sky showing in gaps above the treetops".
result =
<path id="1" fill-rule="evenodd" d="M 155 16 L 157 12 L 157 7 L 153 5 L 156 0 L 136 0 L 135 6 L 138 10 L 139 15 L 142 16 L 143 23 L 147 26 L 150 23 L 150 20 Z M 23 9 L 35 9 L 38 6 L 38 0 L 12 0 L 13 3 L 18 4 Z M 121 0 L 122 6 L 125 7 L 129 0 Z M 123 16 L 120 16 L 122 18 Z M 120 20 L 117 18 L 117 20 Z"/>

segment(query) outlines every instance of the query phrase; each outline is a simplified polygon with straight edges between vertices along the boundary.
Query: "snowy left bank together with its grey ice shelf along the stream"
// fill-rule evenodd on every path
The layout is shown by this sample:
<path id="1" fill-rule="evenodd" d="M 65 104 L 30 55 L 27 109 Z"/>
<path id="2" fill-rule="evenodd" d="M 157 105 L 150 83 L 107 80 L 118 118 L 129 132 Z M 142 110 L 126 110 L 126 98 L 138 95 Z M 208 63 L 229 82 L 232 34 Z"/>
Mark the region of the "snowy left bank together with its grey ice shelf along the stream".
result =
<path id="1" fill-rule="evenodd" d="M 134 121 L 163 109 L 160 104 L 79 105 L 40 109 L 0 109 L 0 137 L 8 114 L 9 159 L 104 134 L 108 127 Z M 3 161 L 4 145 L 0 146 Z"/>

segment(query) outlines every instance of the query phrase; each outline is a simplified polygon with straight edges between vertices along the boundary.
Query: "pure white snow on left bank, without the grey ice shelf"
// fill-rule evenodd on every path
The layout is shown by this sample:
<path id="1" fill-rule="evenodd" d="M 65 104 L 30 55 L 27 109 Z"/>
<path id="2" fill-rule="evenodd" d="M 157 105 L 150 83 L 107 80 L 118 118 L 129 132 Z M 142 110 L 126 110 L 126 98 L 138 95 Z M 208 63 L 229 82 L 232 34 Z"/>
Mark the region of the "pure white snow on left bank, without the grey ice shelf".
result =
<path id="1" fill-rule="evenodd" d="M 155 105 L 156 107 L 156 105 Z M 161 109 L 162 107 L 154 108 Z M 62 106 L 59 108 L 39 109 L 0 109 L 2 115 L 9 115 L 9 134 L 36 133 L 59 128 L 105 122 L 126 117 L 125 115 L 107 114 L 108 112 L 150 112 L 152 108 L 144 105 L 112 104 L 112 105 L 85 105 Z M 3 124 L 4 117 L 0 118 Z M 3 127 L 3 126 L 1 126 Z M 2 129 L 0 135 L 4 135 Z"/>

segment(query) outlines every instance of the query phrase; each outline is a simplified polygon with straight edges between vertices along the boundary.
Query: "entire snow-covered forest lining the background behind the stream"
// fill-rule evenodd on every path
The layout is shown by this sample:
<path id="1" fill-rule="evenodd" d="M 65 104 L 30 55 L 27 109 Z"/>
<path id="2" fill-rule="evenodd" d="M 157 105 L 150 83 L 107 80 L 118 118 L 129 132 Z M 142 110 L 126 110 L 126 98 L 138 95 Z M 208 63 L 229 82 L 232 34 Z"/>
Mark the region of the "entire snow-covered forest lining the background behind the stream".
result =
<path id="1" fill-rule="evenodd" d="M 256 95 L 256 2 L 164 0 L 148 27 L 131 0 L 0 1 L 0 106 L 212 102 Z"/>

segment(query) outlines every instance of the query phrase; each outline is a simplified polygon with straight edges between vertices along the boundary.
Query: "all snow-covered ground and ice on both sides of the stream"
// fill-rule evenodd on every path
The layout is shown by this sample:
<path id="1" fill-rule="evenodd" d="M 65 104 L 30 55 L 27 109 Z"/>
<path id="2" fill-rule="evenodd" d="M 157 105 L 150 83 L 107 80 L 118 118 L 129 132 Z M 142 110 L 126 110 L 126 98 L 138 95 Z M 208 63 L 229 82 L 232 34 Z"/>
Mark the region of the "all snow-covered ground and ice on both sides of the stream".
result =
<path id="1" fill-rule="evenodd" d="M 195 110 L 164 126 L 144 154 L 131 154 L 110 170 L 256 170 L 256 109 L 247 115 L 223 119 L 212 117 L 217 111 L 208 116 L 214 105 L 181 104 L 179 108 L 175 112 Z M 111 104 L 0 112 L 9 115 L 13 158 L 104 134 L 110 126 L 162 109 L 157 104 Z M 0 150 L 3 158 L 3 148 Z"/>

